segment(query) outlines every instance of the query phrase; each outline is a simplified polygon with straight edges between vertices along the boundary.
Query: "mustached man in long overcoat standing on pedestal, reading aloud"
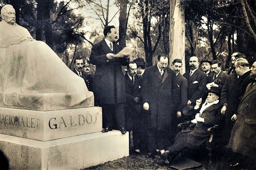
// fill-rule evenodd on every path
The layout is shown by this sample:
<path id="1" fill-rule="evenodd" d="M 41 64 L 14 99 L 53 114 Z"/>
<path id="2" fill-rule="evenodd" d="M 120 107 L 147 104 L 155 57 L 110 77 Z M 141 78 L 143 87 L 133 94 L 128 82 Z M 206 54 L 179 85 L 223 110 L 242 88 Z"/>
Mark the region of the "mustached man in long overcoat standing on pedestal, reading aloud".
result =
<path id="1" fill-rule="evenodd" d="M 103 133 L 115 127 L 116 119 L 118 128 L 124 134 L 126 96 L 121 66 L 128 64 L 130 55 L 115 57 L 121 51 L 116 44 L 118 37 L 115 26 L 106 26 L 103 34 L 105 39 L 93 45 L 90 56 L 91 63 L 96 65 L 93 81 L 94 105 L 102 107 Z"/>

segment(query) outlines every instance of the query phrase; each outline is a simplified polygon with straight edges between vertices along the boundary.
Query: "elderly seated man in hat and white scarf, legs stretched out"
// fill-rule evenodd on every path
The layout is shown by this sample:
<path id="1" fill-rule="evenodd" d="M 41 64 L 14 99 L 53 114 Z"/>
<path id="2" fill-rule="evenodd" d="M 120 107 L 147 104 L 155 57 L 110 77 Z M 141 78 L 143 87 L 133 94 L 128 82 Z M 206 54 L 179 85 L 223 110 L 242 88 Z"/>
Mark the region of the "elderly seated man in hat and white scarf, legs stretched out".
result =
<path id="1" fill-rule="evenodd" d="M 212 87 L 208 90 L 207 99 L 203 104 L 201 104 L 202 98 L 196 100 L 196 106 L 192 111 L 197 114 L 188 128 L 178 133 L 174 144 L 169 146 L 167 150 L 156 150 L 165 160 L 166 165 L 169 165 L 182 149 L 196 149 L 207 144 L 211 135 L 207 129 L 218 124 L 222 118 L 219 98 L 220 89 L 218 87 Z"/>

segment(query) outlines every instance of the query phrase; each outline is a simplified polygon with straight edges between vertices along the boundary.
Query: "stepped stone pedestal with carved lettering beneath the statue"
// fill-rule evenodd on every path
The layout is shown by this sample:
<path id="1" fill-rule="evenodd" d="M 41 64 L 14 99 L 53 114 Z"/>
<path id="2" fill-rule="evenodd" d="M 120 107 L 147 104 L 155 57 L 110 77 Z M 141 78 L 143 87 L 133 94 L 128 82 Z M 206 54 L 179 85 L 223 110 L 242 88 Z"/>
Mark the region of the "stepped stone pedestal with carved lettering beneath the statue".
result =
<path id="1" fill-rule="evenodd" d="M 13 169 L 82 169 L 129 155 L 129 134 L 101 133 L 101 107 L 0 107 L 0 149 Z"/>

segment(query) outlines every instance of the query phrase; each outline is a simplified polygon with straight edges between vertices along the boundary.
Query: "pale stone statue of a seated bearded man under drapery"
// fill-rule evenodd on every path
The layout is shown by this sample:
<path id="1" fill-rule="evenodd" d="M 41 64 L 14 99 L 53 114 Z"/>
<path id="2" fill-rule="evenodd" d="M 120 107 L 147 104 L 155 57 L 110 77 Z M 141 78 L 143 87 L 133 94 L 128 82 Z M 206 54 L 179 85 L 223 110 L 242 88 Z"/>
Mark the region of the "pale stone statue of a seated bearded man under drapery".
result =
<path id="1" fill-rule="evenodd" d="M 44 42 L 15 23 L 12 5 L 1 9 L 0 107 L 59 110 L 93 106 L 93 93 Z"/>

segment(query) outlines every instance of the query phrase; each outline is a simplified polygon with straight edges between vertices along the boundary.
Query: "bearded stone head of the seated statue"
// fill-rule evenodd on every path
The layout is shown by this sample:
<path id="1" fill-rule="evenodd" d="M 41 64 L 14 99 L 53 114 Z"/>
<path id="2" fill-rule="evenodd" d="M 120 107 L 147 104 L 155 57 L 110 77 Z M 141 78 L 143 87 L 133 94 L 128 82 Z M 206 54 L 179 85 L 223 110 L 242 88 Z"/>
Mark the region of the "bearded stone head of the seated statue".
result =
<path id="1" fill-rule="evenodd" d="M 1 17 L 8 24 L 13 25 L 16 21 L 15 10 L 12 5 L 4 5 L 1 9 Z"/>

